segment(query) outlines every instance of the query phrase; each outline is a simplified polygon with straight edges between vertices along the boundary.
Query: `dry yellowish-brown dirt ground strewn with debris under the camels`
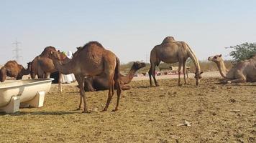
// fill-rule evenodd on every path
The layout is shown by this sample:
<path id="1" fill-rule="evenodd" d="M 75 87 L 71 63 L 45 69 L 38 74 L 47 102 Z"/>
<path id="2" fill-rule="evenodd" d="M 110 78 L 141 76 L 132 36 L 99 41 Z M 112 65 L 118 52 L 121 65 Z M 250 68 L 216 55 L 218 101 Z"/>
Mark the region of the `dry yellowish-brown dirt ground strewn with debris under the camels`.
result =
<path id="1" fill-rule="evenodd" d="M 206 77 L 178 87 L 177 79 L 132 82 L 100 112 L 107 91 L 87 92 L 90 114 L 77 111 L 76 84 L 52 85 L 41 108 L 0 114 L 0 142 L 256 142 L 256 83 L 218 84 Z M 183 80 L 182 80 L 183 82 Z M 182 126 L 184 120 L 191 126 Z"/>

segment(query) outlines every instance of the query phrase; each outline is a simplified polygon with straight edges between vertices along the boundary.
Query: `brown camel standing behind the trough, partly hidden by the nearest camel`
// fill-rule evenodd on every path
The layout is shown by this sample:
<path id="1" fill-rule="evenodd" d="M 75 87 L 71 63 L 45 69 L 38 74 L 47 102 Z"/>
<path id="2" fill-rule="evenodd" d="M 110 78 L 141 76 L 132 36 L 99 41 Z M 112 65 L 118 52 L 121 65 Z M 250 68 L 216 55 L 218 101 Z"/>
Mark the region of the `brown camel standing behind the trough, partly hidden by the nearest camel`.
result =
<path id="1" fill-rule="evenodd" d="M 50 78 L 50 73 L 57 71 L 55 68 L 52 59 L 49 58 L 50 51 L 56 51 L 55 47 L 47 46 L 45 47 L 44 51 L 39 56 L 36 56 L 35 59 L 32 61 L 32 70 L 31 70 L 31 77 L 35 79 L 36 75 L 38 78 Z M 65 56 L 65 54 L 60 54 L 60 60 L 63 63 L 70 61 L 70 59 Z M 59 90 L 62 92 L 62 88 L 60 85 L 60 75 L 59 75 Z"/>

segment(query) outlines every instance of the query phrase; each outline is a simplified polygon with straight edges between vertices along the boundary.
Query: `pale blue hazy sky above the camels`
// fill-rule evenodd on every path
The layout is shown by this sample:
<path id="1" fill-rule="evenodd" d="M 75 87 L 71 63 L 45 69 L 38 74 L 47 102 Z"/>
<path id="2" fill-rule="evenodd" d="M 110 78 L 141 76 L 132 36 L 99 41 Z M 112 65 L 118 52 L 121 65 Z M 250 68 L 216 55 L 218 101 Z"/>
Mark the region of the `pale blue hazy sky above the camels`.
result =
<path id="1" fill-rule="evenodd" d="M 0 0 L 0 19 L 0 64 L 14 59 L 16 38 L 22 64 L 45 46 L 76 51 L 88 41 L 122 63 L 146 61 L 165 36 L 186 41 L 201 60 L 256 41 L 254 0 Z"/>

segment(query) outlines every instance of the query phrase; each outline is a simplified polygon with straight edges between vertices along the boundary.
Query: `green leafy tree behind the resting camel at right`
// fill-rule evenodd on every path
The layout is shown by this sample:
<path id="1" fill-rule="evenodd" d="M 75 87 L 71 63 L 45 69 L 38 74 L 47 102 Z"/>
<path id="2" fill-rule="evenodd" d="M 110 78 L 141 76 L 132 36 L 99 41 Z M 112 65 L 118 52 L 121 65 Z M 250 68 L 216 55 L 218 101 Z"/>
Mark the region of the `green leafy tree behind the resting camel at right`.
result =
<path id="1" fill-rule="evenodd" d="M 256 54 L 256 44 L 248 42 L 237 46 L 230 46 L 228 48 L 233 49 L 233 51 L 230 52 L 230 56 L 233 56 L 235 61 L 250 59 L 250 57 Z"/>

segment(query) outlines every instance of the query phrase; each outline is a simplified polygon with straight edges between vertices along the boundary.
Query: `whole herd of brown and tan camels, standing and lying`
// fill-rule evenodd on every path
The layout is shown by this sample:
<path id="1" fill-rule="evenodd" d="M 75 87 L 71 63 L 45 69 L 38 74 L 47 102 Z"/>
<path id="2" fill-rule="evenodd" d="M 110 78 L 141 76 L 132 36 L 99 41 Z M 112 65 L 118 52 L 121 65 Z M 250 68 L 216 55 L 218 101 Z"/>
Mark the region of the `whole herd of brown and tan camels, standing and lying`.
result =
<path id="1" fill-rule="evenodd" d="M 184 41 L 175 41 L 173 36 L 167 36 L 163 42 L 156 45 L 150 52 L 150 86 L 152 78 L 155 86 L 159 86 L 155 79 L 155 66 L 160 62 L 173 64 L 178 62 L 178 85 L 180 83 L 181 69 L 183 69 L 184 83 L 186 84 L 186 60 L 190 58 L 196 68 L 195 79 L 198 86 L 203 73 L 200 69 L 198 59 L 193 50 Z M 256 55 L 251 59 L 239 61 L 232 69 L 227 69 L 224 60 L 220 55 L 210 56 L 209 61 L 214 61 L 218 66 L 221 77 L 227 83 L 237 82 L 256 82 Z M 129 82 L 132 81 L 135 72 L 145 67 L 145 63 L 134 62 L 129 74 L 120 74 L 119 58 L 111 51 L 107 50 L 98 41 L 90 41 L 84 46 L 77 48 L 73 58 L 69 59 L 65 54 L 55 49 L 53 46 L 47 46 L 39 56 L 36 56 L 31 62 L 27 63 L 27 69 L 17 63 L 17 61 L 7 61 L 0 69 L 0 82 L 6 80 L 6 76 L 22 79 L 23 75 L 30 74 L 32 79 L 49 78 L 50 73 L 58 71 L 60 74 L 74 74 L 78 82 L 78 88 L 81 95 L 81 102 L 78 109 L 88 113 L 85 92 L 108 89 L 108 98 L 103 111 L 106 111 L 114 95 L 114 89 L 117 93 L 117 102 L 114 111 L 118 110 L 119 99 L 122 90 L 131 89 Z M 60 77 L 60 76 L 59 76 Z M 60 79 L 59 79 L 59 88 Z"/>

